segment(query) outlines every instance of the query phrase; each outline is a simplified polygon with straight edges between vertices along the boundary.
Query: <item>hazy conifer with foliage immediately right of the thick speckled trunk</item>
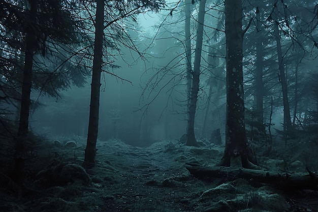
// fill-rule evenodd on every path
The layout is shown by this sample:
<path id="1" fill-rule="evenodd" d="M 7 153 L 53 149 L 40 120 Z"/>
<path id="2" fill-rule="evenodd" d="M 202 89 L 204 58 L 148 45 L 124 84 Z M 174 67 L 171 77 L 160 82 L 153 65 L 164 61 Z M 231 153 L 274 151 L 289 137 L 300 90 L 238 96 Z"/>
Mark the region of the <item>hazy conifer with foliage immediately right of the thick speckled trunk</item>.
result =
<path id="1" fill-rule="evenodd" d="M 267 112 L 273 89 L 266 89 L 270 80 L 275 80 L 273 74 L 275 62 L 269 56 L 273 50 L 272 39 L 268 38 L 265 27 L 266 8 L 263 2 L 255 3 L 256 7 L 245 7 L 244 15 L 253 18 L 243 40 L 243 74 L 244 74 L 244 101 L 245 101 L 245 125 L 247 139 L 249 141 L 268 141 L 266 127 L 268 126 Z M 271 51 L 270 51 L 271 50 Z M 271 76 L 273 75 L 273 76 Z M 270 81 L 271 82 L 271 81 Z M 276 85 L 276 83 L 275 83 Z"/>

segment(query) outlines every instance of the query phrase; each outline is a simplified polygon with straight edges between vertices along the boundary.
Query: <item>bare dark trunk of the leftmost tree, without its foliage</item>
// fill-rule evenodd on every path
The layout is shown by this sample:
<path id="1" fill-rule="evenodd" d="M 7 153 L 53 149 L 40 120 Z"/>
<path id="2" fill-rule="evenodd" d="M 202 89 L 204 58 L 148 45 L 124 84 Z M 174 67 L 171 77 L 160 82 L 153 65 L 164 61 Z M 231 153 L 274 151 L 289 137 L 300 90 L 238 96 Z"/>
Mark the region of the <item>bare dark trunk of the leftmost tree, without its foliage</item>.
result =
<path id="1" fill-rule="evenodd" d="M 29 18 L 30 22 L 36 25 L 37 22 L 37 1 L 29 1 L 30 11 Z M 23 169 L 24 169 L 24 148 L 27 141 L 28 134 L 28 118 L 30 110 L 30 94 L 32 86 L 32 72 L 33 72 L 33 56 L 37 48 L 37 37 L 34 29 L 36 27 L 28 26 L 25 35 L 25 58 L 24 58 L 24 69 L 22 79 L 22 94 L 21 94 L 21 107 L 19 117 L 19 128 L 16 137 L 16 152 L 14 160 L 13 178 L 18 185 L 18 197 L 21 198 L 22 184 L 23 184 Z"/>

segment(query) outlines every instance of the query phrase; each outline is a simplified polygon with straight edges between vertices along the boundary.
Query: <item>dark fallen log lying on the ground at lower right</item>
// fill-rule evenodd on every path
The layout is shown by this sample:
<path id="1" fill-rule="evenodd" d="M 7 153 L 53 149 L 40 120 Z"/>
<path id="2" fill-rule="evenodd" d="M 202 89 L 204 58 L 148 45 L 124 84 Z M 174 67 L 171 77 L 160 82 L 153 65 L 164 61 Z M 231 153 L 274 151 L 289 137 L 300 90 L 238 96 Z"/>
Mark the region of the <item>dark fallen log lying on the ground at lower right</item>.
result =
<path id="1" fill-rule="evenodd" d="M 307 175 L 277 173 L 272 171 L 254 170 L 234 167 L 203 167 L 198 164 L 188 164 L 186 169 L 196 178 L 210 180 L 222 178 L 231 181 L 243 178 L 250 182 L 266 183 L 281 189 L 318 190 L 318 175 L 308 171 Z"/>

